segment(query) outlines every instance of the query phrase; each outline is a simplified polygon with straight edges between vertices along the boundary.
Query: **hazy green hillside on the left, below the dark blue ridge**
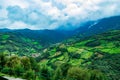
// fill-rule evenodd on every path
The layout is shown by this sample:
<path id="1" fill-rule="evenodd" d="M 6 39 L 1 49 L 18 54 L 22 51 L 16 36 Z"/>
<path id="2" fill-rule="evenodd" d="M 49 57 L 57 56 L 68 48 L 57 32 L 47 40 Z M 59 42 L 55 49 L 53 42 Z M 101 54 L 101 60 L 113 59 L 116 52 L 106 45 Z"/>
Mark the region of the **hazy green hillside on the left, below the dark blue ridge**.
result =
<path id="1" fill-rule="evenodd" d="M 29 56 L 39 53 L 42 46 L 39 42 L 15 33 L 0 33 L 0 52 L 8 55 Z"/>

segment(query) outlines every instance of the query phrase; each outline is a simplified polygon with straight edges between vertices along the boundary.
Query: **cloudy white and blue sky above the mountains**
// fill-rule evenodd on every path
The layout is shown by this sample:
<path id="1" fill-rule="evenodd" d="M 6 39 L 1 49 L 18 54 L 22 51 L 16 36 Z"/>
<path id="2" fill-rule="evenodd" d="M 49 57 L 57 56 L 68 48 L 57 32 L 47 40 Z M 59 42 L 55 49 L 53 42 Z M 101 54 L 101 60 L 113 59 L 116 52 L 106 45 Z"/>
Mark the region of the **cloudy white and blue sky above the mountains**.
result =
<path id="1" fill-rule="evenodd" d="M 74 28 L 120 15 L 120 0 L 0 0 L 0 28 Z"/>

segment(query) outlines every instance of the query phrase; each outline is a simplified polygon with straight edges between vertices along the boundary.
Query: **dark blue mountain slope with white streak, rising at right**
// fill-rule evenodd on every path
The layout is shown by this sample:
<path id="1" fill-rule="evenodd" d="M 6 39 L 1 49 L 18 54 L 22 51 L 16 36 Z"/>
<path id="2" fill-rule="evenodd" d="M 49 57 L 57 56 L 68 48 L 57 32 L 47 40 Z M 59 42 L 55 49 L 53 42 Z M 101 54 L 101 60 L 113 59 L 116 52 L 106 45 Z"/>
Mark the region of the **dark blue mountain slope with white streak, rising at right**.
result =
<path id="1" fill-rule="evenodd" d="M 91 36 L 110 30 L 120 29 L 120 16 L 89 21 L 75 30 L 77 37 Z M 78 35 L 79 34 L 79 35 Z"/>

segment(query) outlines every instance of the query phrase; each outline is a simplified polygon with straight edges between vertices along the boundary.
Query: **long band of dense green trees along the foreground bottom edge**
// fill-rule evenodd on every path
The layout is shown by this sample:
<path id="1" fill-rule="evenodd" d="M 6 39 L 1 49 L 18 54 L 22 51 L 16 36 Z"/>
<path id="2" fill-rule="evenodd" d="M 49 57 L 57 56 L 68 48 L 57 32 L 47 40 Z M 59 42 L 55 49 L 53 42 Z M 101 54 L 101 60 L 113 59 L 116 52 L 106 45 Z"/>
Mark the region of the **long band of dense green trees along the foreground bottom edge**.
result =
<path id="1" fill-rule="evenodd" d="M 55 69 L 40 66 L 31 57 L 5 56 L 0 54 L 0 72 L 27 80 L 105 80 L 104 75 L 94 70 L 82 69 L 63 63 Z"/>

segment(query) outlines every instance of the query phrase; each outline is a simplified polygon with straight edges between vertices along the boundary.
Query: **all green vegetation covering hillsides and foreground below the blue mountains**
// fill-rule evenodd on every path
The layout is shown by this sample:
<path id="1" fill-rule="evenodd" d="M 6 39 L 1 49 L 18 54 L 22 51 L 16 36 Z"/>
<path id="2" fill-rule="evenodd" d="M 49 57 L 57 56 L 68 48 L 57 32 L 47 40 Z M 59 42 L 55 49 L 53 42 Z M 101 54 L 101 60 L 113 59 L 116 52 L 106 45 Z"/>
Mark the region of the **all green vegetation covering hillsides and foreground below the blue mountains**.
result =
<path id="1" fill-rule="evenodd" d="M 1 34 L 0 72 L 27 80 L 119 80 L 119 34 L 120 30 L 114 30 L 84 39 L 74 37 L 45 48 L 35 58 L 27 54 L 39 52 L 39 42 Z"/>

